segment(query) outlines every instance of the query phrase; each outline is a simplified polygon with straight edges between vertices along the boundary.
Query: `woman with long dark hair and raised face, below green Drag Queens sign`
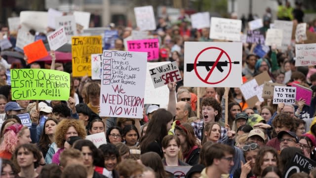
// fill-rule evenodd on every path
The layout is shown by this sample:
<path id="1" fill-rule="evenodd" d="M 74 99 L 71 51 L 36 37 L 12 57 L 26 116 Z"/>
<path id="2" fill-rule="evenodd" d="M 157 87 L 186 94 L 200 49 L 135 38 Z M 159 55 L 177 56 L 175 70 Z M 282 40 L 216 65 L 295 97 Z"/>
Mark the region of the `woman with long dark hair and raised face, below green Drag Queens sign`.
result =
<path id="1" fill-rule="evenodd" d="M 40 141 L 37 143 L 43 157 L 45 158 L 49 146 L 55 141 L 55 130 L 58 121 L 53 118 L 48 118 L 44 123 L 44 129 L 40 134 Z"/>

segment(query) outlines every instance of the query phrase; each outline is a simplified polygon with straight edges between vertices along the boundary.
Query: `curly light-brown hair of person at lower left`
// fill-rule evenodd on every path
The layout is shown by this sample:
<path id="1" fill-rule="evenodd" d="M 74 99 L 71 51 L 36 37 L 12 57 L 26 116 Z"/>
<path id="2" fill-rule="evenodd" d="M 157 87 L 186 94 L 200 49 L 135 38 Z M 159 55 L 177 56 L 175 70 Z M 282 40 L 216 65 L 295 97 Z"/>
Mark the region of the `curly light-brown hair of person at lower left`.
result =
<path id="1" fill-rule="evenodd" d="M 66 141 L 65 136 L 70 127 L 74 127 L 78 133 L 78 136 L 81 138 L 85 138 L 87 135 L 82 121 L 76 119 L 63 119 L 58 123 L 55 131 L 55 142 L 57 147 L 64 147 L 64 143 Z"/>

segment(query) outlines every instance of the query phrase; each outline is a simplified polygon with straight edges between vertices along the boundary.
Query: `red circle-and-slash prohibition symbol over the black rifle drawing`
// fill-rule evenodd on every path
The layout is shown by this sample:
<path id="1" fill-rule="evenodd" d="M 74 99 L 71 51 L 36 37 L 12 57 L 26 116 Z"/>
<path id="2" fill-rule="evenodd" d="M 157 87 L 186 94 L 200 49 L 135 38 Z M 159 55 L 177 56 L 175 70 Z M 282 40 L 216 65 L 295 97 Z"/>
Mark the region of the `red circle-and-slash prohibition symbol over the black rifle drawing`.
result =
<path id="1" fill-rule="evenodd" d="M 217 49 L 217 50 L 220 50 L 221 52 L 220 52 L 220 54 L 218 55 L 218 57 L 217 57 L 215 63 L 212 65 L 212 67 L 211 67 L 210 71 L 208 72 L 207 76 L 205 77 L 205 79 L 203 79 L 203 78 L 198 74 L 198 72 L 197 72 L 197 59 L 198 59 L 198 57 L 199 57 L 204 51 L 209 50 L 209 49 Z M 227 75 L 226 75 L 222 80 L 220 80 L 220 81 L 217 81 L 217 82 L 207 82 L 208 79 L 210 78 L 210 76 L 211 76 L 211 74 L 212 74 L 214 68 L 217 66 L 217 63 L 219 62 L 219 60 L 221 59 L 221 57 L 222 57 L 223 54 L 225 54 L 225 55 L 227 56 L 228 60 L 229 60 L 229 62 L 228 62 L 228 63 L 229 63 L 229 71 L 228 71 Z M 195 61 L 194 61 L 194 71 L 195 71 L 195 73 L 197 74 L 198 79 L 201 80 L 202 82 L 206 83 L 206 84 L 213 84 L 213 85 L 214 85 L 214 84 L 219 84 L 219 83 L 223 82 L 225 79 L 227 79 L 227 77 L 228 77 L 229 74 L 231 73 L 231 70 L 232 70 L 232 60 L 231 60 L 231 58 L 229 57 L 229 55 L 227 54 L 226 51 L 224 51 L 223 49 L 221 49 L 221 48 L 219 48 L 219 47 L 206 47 L 206 48 L 204 48 L 203 50 L 201 50 L 201 51 L 197 54 L 197 57 L 196 57 L 196 59 L 195 59 Z"/>

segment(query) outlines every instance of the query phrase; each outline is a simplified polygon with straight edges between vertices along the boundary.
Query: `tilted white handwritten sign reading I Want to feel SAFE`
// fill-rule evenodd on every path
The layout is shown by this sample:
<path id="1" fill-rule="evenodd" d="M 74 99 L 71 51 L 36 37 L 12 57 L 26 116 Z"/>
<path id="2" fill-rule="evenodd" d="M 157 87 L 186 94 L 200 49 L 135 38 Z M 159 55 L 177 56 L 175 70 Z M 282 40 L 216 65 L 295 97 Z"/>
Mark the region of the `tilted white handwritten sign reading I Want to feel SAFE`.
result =
<path id="1" fill-rule="evenodd" d="M 149 70 L 155 88 L 181 81 L 181 74 L 176 61 Z"/>

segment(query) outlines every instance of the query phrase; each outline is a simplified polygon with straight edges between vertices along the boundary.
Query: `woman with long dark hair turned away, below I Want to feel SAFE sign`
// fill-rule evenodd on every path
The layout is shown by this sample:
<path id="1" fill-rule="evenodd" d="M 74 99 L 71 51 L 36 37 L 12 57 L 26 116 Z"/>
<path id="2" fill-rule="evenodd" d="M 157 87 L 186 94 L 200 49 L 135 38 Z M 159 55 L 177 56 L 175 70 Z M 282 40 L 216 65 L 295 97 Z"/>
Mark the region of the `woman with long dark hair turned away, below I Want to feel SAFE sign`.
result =
<path id="1" fill-rule="evenodd" d="M 146 153 L 154 151 L 162 158 L 161 141 L 171 129 L 172 122 L 173 116 L 169 111 L 165 109 L 158 109 L 148 124 L 145 136 L 139 143 L 141 152 Z"/>

